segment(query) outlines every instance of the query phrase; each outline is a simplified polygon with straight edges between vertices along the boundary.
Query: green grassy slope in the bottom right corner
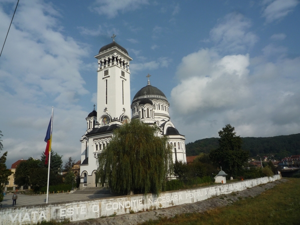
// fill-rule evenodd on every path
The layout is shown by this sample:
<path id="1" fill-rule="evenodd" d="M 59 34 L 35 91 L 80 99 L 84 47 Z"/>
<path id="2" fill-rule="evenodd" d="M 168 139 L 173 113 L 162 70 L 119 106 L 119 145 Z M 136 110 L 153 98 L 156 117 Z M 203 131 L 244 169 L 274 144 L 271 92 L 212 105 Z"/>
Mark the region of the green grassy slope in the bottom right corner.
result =
<path id="1" fill-rule="evenodd" d="M 186 213 L 149 224 L 300 224 L 300 178 L 288 178 L 253 198 L 205 213 Z"/>

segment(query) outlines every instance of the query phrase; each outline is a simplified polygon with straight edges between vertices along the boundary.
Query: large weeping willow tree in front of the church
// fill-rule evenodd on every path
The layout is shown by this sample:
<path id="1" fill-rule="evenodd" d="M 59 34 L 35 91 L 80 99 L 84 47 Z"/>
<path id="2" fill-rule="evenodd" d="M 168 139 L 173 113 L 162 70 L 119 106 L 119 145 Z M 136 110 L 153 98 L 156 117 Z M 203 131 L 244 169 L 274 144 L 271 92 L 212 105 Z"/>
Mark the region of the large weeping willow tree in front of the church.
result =
<path id="1" fill-rule="evenodd" d="M 137 119 L 113 132 L 98 158 L 97 178 L 116 193 L 159 193 L 172 172 L 171 148 L 157 126 Z"/>

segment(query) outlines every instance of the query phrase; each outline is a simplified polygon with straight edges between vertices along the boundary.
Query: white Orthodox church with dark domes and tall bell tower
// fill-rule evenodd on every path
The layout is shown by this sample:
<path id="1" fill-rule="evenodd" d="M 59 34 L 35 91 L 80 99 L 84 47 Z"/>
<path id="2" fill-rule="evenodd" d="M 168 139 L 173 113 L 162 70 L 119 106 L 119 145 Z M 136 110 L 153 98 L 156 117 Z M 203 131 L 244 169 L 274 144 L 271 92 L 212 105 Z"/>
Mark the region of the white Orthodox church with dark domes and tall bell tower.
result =
<path id="1" fill-rule="evenodd" d="M 97 68 L 97 110 L 85 118 L 87 128 L 81 137 L 80 189 L 96 187 L 97 157 L 112 138 L 113 130 L 130 119 L 138 118 L 159 127 L 158 135 L 167 136 L 173 162 L 186 162 L 185 137 L 170 120 L 169 102 L 164 93 L 150 84 L 134 95 L 130 103 L 130 70 L 132 58 L 125 48 L 113 41 L 100 48 L 94 57 Z M 94 105 L 95 106 L 95 105 Z"/>

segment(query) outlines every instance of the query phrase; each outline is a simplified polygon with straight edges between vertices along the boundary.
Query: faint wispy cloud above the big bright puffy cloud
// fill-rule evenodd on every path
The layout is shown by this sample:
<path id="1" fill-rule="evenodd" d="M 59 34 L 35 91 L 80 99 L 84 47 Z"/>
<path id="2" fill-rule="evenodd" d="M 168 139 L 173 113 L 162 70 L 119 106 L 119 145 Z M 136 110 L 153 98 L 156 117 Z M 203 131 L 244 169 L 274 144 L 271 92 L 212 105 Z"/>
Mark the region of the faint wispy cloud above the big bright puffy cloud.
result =
<path id="1" fill-rule="evenodd" d="M 210 30 L 210 38 L 218 50 L 230 53 L 244 52 L 258 40 L 256 34 L 248 31 L 250 26 L 249 19 L 240 13 L 232 12 Z"/>

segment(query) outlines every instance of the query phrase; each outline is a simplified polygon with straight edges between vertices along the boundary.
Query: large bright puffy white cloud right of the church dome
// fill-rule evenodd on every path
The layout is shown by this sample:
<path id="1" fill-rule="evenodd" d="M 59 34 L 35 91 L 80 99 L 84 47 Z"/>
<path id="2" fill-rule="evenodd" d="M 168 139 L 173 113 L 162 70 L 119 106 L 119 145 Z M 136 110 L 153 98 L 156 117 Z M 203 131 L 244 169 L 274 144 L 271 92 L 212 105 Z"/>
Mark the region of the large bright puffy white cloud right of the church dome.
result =
<path id="1" fill-rule="evenodd" d="M 247 95 L 244 77 L 249 72 L 249 56 L 210 58 L 210 55 L 215 56 L 215 52 L 201 49 L 186 56 L 178 66 L 178 72 L 184 73 L 179 75 L 180 84 L 171 91 L 172 107 L 178 113 L 188 115 L 227 108 Z M 203 62 L 205 56 L 207 58 Z"/>

